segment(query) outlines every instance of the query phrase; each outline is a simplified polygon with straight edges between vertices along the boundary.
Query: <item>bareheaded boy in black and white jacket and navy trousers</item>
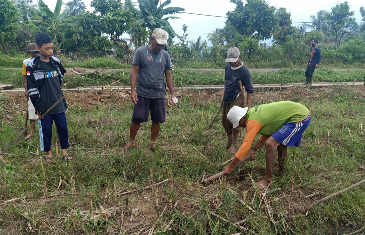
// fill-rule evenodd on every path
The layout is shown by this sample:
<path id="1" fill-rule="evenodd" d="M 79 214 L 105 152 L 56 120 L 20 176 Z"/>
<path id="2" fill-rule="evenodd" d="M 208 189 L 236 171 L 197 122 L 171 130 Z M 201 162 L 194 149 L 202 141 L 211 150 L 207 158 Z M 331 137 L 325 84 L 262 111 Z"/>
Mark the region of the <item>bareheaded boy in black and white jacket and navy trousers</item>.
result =
<path id="1" fill-rule="evenodd" d="M 64 161 L 71 161 L 72 158 L 66 153 L 66 149 L 70 147 L 65 115 L 65 110 L 68 108 L 66 100 L 63 99 L 46 115 L 44 114 L 47 109 L 64 96 L 61 84 L 66 70 L 61 65 L 61 61 L 52 56 L 53 42 L 48 34 L 38 34 L 35 37 L 35 42 L 39 55 L 28 62 L 27 90 L 29 99 L 32 101 L 37 115 L 41 118 L 38 121 L 41 150 L 46 152 L 48 163 L 54 162 L 51 152 L 52 125 L 54 121 L 61 143 L 63 159 Z"/>

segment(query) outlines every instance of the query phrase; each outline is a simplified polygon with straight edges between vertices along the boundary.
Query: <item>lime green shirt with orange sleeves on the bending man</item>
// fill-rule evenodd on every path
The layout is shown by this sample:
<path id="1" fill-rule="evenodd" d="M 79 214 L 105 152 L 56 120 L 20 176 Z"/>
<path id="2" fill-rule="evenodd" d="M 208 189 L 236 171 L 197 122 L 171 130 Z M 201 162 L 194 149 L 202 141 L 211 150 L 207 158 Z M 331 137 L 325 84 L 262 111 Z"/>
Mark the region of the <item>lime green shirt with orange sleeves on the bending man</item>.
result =
<path id="1" fill-rule="evenodd" d="M 250 150 L 257 134 L 259 141 L 265 142 L 285 123 L 300 122 L 307 118 L 309 110 L 304 105 L 292 101 L 260 104 L 250 108 L 246 114 L 246 135 L 236 157 L 242 160 Z"/>

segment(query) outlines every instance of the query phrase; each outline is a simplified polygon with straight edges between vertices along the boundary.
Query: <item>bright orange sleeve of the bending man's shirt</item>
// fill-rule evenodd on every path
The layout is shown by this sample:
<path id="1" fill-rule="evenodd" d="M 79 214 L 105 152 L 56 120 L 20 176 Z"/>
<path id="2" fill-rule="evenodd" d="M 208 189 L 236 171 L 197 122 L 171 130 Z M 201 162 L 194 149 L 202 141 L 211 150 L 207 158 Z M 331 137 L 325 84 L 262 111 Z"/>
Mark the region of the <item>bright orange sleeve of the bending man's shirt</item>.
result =
<path id="1" fill-rule="evenodd" d="M 246 127 L 247 127 L 247 131 L 246 131 L 245 139 L 243 140 L 243 143 L 236 154 L 236 158 L 238 158 L 240 161 L 244 157 L 246 157 L 247 153 L 249 153 L 249 150 L 255 139 L 255 136 L 257 135 L 257 132 L 260 131 L 262 125 L 260 122 L 258 122 L 256 120 L 248 120 L 246 122 Z"/>

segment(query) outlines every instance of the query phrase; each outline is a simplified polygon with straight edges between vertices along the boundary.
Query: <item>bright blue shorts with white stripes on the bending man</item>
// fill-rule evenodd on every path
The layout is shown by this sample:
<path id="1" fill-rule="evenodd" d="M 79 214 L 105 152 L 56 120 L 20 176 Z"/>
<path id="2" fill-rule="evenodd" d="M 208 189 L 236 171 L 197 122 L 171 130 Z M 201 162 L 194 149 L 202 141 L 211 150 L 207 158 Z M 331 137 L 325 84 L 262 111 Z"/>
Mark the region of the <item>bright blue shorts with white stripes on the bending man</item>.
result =
<path id="1" fill-rule="evenodd" d="M 272 137 L 279 143 L 289 146 L 298 147 L 301 144 L 301 136 L 303 132 L 309 126 L 311 122 L 311 113 L 308 117 L 300 122 L 287 122 L 281 127 L 277 132 L 275 132 Z"/>

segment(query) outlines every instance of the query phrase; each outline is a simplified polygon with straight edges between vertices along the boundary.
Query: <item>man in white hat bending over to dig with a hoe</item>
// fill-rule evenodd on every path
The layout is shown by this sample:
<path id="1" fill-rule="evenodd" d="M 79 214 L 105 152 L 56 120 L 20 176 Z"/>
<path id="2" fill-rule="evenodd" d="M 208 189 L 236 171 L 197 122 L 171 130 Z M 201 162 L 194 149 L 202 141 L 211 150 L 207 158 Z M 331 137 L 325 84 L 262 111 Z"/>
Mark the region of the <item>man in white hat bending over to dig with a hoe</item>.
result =
<path id="1" fill-rule="evenodd" d="M 256 151 L 263 145 L 266 148 L 266 174 L 257 186 L 266 188 L 272 182 L 276 151 L 278 149 L 279 171 L 283 172 L 287 160 L 287 146 L 300 146 L 301 137 L 311 121 L 309 110 L 299 103 L 279 101 L 270 104 L 260 104 L 247 112 L 246 108 L 234 106 L 227 115 L 233 128 L 247 127 L 243 144 L 235 158 L 224 167 L 224 174 L 233 172 L 233 167 L 242 160 L 251 149 L 251 160 Z M 257 134 L 261 134 L 259 142 L 251 148 Z"/>

